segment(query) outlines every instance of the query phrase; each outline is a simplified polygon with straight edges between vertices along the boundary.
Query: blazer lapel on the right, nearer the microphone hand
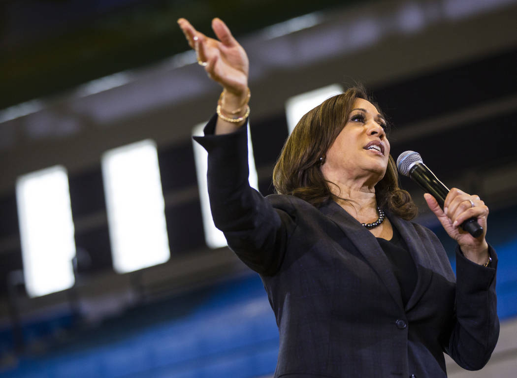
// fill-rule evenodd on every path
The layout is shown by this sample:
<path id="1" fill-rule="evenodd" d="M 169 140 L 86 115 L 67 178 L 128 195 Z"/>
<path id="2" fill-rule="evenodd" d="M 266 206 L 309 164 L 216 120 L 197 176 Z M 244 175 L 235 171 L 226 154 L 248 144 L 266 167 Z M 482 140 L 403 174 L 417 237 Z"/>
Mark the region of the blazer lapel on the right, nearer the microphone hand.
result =
<path id="1" fill-rule="evenodd" d="M 415 286 L 415 290 L 409 297 L 405 308 L 405 310 L 408 311 L 418 303 L 418 300 L 425 293 L 425 290 L 427 290 L 431 282 L 432 270 L 429 267 L 432 265 L 432 262 L 429 258 L 429 253 L 427 252 L 427 246 L 422 243 L 414 226 L 410 222 L 399 217 L 388 213 L 386 215 L 388 216 L 391 224 L 399 230 L 417 268 L 417 284 Z"/>

